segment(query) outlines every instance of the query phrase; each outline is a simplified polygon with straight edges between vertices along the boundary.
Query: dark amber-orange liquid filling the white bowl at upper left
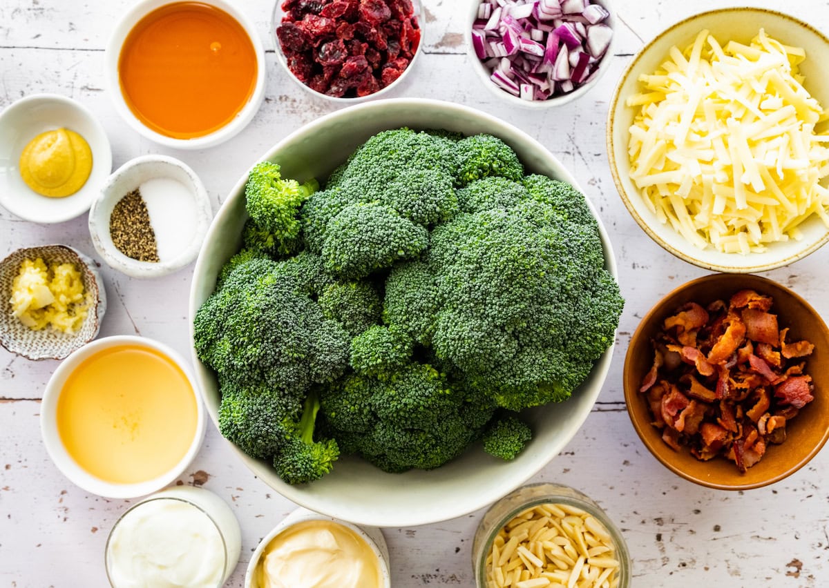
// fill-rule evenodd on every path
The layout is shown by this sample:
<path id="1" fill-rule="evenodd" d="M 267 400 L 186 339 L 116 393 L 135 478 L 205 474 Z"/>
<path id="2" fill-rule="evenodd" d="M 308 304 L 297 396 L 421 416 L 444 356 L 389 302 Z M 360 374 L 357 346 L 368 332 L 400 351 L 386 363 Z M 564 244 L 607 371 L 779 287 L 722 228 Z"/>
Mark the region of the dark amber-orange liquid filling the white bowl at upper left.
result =
<path id="1" fill-rule="evenodd" d="M 245 108 L 257 67 L 253 43 L 234 17 L 201 2 L 174 2 L 129 31 L 118 71 L 138 120 L 189 139 L 215 132 Z"/>

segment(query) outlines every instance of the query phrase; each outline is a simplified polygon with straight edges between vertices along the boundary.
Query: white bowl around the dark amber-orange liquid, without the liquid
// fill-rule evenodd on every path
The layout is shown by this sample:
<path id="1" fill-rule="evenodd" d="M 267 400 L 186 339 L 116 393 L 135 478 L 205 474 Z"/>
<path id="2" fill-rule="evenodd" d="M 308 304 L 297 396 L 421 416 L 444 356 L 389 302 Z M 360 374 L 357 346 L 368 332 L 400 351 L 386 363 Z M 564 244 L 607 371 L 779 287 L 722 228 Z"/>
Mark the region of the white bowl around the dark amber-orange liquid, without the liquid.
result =
<path id="1" fill-rule="evenodd" d="M 253 120 L 256 112 L 259 110 L 259 105 L 262 104 L 262 100 L 264 99 L 265 70 L 267 70 L 267 65 L 264 61 L 264 46 L 256 32 L 254 22 L 246 17 L 245 12 L 242 12 L 234 3 L 227 2 L 226 0 L 200 0 L 200 2 L 219 8 L 230 14 L 231 17 L 234 17 L 236 22 L 239 22 L 240 26 L 245 29 L 248 37 L 250 37 L 250 42 L 253 43 L 256 54 L 256 84 L 253 94 L 250 95 L 250 99 L 248 99 L 245 107 L 239 113 L 236 113 L 235 118 L 230 123 L 202 137 L 193 137 L 190 139 L 167 137 L 167 135 L 162 135 L 162 133 L 158 133 L 142 123 L 133 114 L 133 111 L 129 109 L 124 99 L 124 94 L 121 91 L 118 71 L 119 58 L 121 55 L 121 47 L 124 46 L 124 41 L 129 32 L 150 12 L 175 2 L 176 0 L 140 0 L 139 2 L 135 2 L 133 7 L 130 7 L 119 22 L 115 24 L 112 35 L 109 36 L 106 54 L 104 55 L 104 75 L 106 77 L 107 90 L 113 100 L 115 110 L 124 118 L 127 124 L 133 130 L 151 141 L 157 142 L 165 147 L 173 147 L 176 149 L 205 149 L 207 147 L 215 147 L 245 128 Z"/>

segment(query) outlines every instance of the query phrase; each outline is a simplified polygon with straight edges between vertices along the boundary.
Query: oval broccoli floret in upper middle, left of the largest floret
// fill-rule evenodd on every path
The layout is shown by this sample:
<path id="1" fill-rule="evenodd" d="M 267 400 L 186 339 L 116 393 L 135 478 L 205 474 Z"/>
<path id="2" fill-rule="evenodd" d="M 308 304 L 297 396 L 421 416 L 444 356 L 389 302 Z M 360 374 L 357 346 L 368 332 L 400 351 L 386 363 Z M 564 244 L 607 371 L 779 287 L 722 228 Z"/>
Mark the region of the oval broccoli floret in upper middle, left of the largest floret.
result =
<path id="1" fill-rule="evenodd" d="M 399 259 L 417 257 L 429 233 L 380 204 L 348 205 L 328 224 L 322 258 L 329 272 L 359 279 Z"/>

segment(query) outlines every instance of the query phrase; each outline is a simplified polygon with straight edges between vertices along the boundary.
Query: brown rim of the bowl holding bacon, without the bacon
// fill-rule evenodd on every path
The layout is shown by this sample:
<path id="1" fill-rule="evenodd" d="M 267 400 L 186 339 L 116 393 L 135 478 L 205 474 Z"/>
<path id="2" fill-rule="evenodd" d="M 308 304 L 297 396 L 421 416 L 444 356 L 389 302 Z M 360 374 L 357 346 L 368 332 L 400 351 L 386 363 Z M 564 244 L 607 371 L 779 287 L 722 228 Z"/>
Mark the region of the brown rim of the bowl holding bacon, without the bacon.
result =
<path id="1" fill-rule="evenodd" d="M 696 277 L 693 280 L 685 282 L 680 286 L 677 286 L 668 292 L 665 296 L 662 296 L 656 304 L 652 306 L 652 308 L 647 311 L 647 314 L 642 317 L 642 320 L 639 321 L 639 324 L 635 331 L 633 331 L 633 335 L 631 336 L 631 344 L 634 340 L 638 340 L 642 333 L 647 329 L 648 325 L 650 325 L 655 319 L 660 318 L 666 310 L 662 308 L 665 301 L 667 301 L 672 296 L 676 296 L 687 288 L 692 286 L 696 286 L 697 284 L 703 284 L 706 282 L 715 282 L 717 280 L 726 280 L 729 277 L 750 277 L 751 279 L 759 280 L 759 282 L 768 284 L 771 287 L 779 288 L 786 292 L 789 296 L 792 296 L 798 304 L 802 305 L 809 313 L 814 317 L 814 320 L 819 321 L 819 323 L 823 326 L 823 330 L 827 330 L 827 325 L 823 321 L 820 314 L 810 305 L 802 296 L 794 292 L 791 288 L 784 286 L 779 282 L 775 282 L 772 279 L 764 276 L 757 276 L 754 273 L 749 274 L 734 274 L 734 273 L 712 273 L 706 276 Z M 735 286 L 735 290 L 739 289 L 739 287 Z M 826 445 L 827 440 L 829 440 L 829 428 L 826 431 L 823 431 L 823 436 L 817 444 L 812 447 L 812 450 L 804 455 L 802 460 L 798 461 L 797 464 L 789 467 L 787 470 L 783 470 L 776 475 L 771 476 L 767 480 L 760 480 L 758 482 L 750 483 L 750 484 L 721 484 L 718 482 L 713 482 L 710 480 L 705 480 L 705 478 L 698 478 L 695 475 L 691 475 L 685 470 L 682 470 L 679 466 L 673 463 L 672 460 L 666 460 L 662 457 L 662 455 L 658 454 L 657 451 L 654 451 L 652 448 L 652 444 L 650 441 L 646 439 L 645 431 L 649 431 L 647 427 L 651 427 L 652 425 L 648 423 L 639 422 L 638 419 L 633 417 L 633 410 L 631 408 L 634 402 L 639 403 L 642 402 L 642 398 L 638 396 L 638 390 L 633 390 L 628 387 L 628 377 L 630 376 L 633 370 L 633 360 L 634 360 L 634 350 L 633 345 L 628 344 L 628 350 L 625 353 L 624 358 L 624 366 L 623 366 L 623 374 L 622 374 L 622 387 L 625 399 L 625 407 L 627 408 L 628 418 L 630 418 L 631 424 L 633 425 L 633 429 L 636 431 L 640 441 L 642 441 L 642 445 L 647 448 L 647 451 L 651 453 L 657 460 L 667 467 L 668 470 L 671 470 L 674 474 L 679 475 L 681 478 L 688 480 L 689 482 L 693 482 L 694 484 L 700 484 L 701 486 L 705 486 L 711 489 L 717 490 L 750 490 L 755 488 L 762 488 L 764 486 L 768 486 L 769 484 L 775 484 L 784 478 L 787 478 L 789 475 L 794 474 L 797 470 L 800 470 L 804 465 L 807 465 L 812 458 L 815 457 Z"/>

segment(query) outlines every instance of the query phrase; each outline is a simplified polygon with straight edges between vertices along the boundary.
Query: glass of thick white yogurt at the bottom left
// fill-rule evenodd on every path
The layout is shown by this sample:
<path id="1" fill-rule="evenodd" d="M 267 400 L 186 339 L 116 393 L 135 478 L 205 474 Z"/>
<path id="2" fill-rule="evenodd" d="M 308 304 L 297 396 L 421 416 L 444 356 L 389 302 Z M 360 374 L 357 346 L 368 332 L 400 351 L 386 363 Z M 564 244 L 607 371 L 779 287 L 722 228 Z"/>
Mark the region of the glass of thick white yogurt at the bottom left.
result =
<path id="1" fill-rule="evenodd" d="M 239 522 L 212 492 L 172 486 L 135 504 L 106 544 L 113 588 L 224 586 L 239 561 Z"/>

